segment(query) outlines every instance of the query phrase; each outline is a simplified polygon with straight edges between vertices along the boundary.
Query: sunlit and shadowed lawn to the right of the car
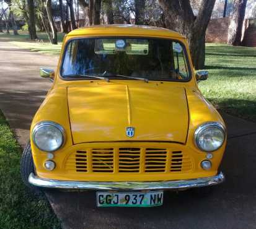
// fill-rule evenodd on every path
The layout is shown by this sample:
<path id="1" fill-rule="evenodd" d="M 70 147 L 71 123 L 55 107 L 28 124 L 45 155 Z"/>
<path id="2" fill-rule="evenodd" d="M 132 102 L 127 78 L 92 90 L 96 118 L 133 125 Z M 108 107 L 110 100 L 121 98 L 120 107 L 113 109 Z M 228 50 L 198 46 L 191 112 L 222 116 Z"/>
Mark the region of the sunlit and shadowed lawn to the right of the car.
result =
<path id="1" fill-rule="evenodd" d="M 217 108 L 256 122 L 256 48 L 207 44 L 203 95 Z"/>

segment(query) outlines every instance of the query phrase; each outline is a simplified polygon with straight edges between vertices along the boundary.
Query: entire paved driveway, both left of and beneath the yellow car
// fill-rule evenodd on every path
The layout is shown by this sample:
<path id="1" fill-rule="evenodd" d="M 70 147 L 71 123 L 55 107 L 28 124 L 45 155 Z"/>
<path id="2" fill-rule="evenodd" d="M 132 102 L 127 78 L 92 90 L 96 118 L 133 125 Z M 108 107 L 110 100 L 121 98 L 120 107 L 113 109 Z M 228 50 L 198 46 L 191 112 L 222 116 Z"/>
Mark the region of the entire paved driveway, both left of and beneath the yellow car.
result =
<path id="1" fill-rule="evenodd" d="M 0 109 L 22 145 L 51 85 L 40 79 L 38 68 L 55 67 L 56 61 L 0 42 Z M 229 136 L 221 166 L 226 182 L 210 196 L 166 192 L 162 207 L 97 209 L 95 192 L 47 192 L 64 228 L 256 228 L 256 124 L 223 117 Z"/>

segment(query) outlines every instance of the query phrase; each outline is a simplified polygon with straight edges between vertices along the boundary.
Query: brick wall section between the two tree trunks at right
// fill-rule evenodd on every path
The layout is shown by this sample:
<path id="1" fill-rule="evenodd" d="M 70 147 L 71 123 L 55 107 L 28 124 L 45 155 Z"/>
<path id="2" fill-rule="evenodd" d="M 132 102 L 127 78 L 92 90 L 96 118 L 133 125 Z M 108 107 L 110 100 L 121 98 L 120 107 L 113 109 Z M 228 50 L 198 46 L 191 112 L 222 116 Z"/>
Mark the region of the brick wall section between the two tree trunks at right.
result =
<path id="1" fill-rule="evenodd" d="M 206 30 L 206 42 L 226 43 L 229 17 L 211 19 Z"/>

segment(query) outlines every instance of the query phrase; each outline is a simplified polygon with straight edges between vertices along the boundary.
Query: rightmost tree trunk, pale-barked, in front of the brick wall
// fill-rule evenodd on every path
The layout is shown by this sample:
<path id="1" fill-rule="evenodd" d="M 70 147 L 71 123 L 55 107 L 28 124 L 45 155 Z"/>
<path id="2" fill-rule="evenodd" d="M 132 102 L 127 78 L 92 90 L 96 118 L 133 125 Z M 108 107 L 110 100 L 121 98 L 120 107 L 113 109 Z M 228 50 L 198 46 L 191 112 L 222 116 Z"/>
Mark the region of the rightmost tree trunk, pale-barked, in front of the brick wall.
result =
<path id="1" fill-rule="evenodd" d="M 246 4 L 247 0 L 234 0 L 234 11 L 227 33 L 227 44 L 229 45 L 241 45 L 242 24 L 244 22 Z"/>

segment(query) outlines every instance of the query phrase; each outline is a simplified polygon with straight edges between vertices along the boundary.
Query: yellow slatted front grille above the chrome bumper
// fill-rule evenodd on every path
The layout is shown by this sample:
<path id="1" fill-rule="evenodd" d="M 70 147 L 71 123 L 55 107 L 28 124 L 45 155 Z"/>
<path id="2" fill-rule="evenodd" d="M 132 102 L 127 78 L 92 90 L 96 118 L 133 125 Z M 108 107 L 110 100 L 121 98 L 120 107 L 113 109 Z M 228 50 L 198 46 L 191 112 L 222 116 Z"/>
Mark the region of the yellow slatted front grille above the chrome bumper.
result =
<path id="1" fill-rule="evenodd" d="M 192 167 L 182 151 L 146 147 L 77 150 L 65 165 L 78 173 L 187 173 Z"/>

